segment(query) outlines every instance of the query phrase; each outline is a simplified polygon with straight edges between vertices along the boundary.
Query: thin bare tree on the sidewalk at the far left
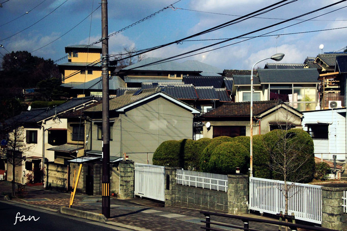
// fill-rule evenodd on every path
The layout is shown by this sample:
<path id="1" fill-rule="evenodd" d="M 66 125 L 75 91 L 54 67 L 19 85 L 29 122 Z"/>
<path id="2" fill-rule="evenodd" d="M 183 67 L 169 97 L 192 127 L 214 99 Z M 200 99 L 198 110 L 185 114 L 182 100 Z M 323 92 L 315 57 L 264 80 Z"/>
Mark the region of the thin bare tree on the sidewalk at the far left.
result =
<path id="1" fill-rule="evenodd" d="M 12 196 L 15 197 L 15 168 L 23 165 L 23 160 L 26 157 L 22 153 L 30 147 L 23 142 L 25 130 L 22 126 L 11 126 L 11 128 L 7 128 L 2 132 L 7 133 L 7 147 L 0 149 L 0 155 L 5 157 L 7 165 L 10 164 L 12 166 Z"/>

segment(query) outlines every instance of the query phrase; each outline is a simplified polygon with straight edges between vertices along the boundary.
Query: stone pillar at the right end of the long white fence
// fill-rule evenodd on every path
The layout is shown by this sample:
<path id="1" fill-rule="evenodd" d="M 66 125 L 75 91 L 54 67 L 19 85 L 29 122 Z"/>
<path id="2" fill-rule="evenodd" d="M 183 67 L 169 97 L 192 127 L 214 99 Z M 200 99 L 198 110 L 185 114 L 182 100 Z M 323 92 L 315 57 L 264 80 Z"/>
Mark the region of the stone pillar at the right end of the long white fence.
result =
<path id="1" fill-rule="evenodd" d="M 347 188 L 322 187 L 322 227 L 347 231 L 347 214 L 342 206 L 344 191 Z"/>

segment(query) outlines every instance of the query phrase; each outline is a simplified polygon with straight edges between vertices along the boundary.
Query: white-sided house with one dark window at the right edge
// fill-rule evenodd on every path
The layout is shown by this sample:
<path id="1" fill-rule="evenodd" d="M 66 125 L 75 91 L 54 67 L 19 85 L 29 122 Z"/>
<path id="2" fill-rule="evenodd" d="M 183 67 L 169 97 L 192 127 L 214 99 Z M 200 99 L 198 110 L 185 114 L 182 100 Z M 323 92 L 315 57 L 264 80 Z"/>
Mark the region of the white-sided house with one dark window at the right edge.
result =
<path id="1" fill-rule="evenodd" d="M 303 129 L 313 139 L 314 154 L 318 158 L 346 160 L 346 108 L 303 112 Z"/>

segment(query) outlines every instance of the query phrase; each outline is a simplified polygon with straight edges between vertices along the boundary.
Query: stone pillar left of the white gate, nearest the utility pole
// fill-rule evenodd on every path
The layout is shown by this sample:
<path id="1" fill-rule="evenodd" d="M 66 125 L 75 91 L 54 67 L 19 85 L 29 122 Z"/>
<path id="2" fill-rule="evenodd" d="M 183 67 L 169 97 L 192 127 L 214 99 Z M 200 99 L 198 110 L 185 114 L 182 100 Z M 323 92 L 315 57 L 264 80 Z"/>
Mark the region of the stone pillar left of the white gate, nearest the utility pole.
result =
<path id="1" fill-rule="evenodd" d="M 119 163 L 119 197 L 134 198 L 134 162 L 127 160 Z"/>

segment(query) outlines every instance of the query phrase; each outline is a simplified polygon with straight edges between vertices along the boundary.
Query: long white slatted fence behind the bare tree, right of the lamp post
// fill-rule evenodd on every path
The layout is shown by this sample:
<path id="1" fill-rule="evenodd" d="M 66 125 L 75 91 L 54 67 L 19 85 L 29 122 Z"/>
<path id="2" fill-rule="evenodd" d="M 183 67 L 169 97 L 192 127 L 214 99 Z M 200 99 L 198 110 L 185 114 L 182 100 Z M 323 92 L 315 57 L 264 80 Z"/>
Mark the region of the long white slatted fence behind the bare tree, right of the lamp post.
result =
<path id="1" fill-rule="evenodd" d="M 249 210 L 277 214 L 285 210 L 284 182 L 249 178 Z M 288 214 L 295 219 L 322 224 L 321 186 L 287 182 L 290 185 Z"/>

